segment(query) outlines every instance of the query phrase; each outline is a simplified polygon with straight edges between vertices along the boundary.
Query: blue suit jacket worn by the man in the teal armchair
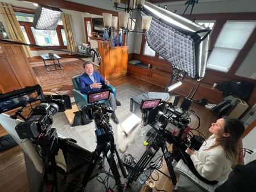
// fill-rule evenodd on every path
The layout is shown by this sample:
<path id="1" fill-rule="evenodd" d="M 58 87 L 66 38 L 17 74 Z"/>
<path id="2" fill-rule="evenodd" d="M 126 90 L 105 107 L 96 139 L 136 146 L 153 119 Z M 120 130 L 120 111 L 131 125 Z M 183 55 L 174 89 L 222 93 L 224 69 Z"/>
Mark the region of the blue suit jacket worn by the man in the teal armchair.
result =
<path id="1" fill-rule="evenodd" d="M 96 82 L 101 83 L 102 86 L 105 84 L 105 80 L 101 76 L 100 73 L 93 72 L 93 77 L 96 80 Z M 82 74 L 82 76 L 79 77 L 79 89 L 80 89 L 81 93 L 86 94 L 88 91 L 101 90 L 99 88 L 90 89 L 90 85 L 92 85 L 92 84 L 93 84 L 93 81 L 90 79 L 88 74 L 84 73 L 84 74 Z"/>

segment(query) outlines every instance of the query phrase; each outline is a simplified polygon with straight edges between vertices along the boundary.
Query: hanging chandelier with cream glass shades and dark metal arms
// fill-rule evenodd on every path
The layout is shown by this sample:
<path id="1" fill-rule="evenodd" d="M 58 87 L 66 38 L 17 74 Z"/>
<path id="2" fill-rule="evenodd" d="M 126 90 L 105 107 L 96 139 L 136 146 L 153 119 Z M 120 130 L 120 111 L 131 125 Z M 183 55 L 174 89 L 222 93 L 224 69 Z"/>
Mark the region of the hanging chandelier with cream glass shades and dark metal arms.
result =
<path id="1" fill-rule="evenodd" d="M 104 26 L 106 29 L 117 31 L 119 23 L 119 28 L 125 35 L 128 35 L 131 32 L 143 35 L 147 33 L 150 28 L 152 16 L 142 16 L 142 31 L 139 31 L 136 19 L 133 18 L 133 12 L 141 11 L 143 9 L 145 0 L 126 0 L 125 7 L 120 6 L 121 0 L 112 0 L 112 2 L 115 10 L 123 10 L 124 12 L 118 12 L 118 17 L 112 16 L 112 14 L 109 13 L 102 13 Z M 137 26 L 137 31 L 134 31 L 135 25 Z"/>

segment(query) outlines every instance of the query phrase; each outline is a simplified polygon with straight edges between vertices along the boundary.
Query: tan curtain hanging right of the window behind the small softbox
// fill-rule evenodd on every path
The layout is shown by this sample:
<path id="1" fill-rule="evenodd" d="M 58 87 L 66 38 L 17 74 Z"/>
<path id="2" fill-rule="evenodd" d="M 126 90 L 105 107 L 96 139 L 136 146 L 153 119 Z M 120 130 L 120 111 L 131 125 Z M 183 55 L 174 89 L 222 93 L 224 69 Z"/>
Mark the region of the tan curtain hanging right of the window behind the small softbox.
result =
<path id="1" fill-rule="evenodd" d="M 77 52 L 76 41 L 75 41 L 75 38 L 73 35 L 70 15 L 63 13 L 61 15 L 61 20 L 63 22 L 63 28 L 64 28 L 66 39 L 67 39 L 68 51 Z M 71 55 L 71 53 L 69 53 L 69 54 Z"/>

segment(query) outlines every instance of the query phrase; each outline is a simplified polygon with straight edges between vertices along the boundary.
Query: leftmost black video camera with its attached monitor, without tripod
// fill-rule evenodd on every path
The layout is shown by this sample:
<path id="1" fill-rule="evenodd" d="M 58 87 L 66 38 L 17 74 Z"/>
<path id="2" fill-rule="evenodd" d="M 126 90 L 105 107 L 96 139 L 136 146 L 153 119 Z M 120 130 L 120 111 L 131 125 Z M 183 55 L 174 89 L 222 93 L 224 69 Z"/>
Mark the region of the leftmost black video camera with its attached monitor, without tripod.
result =
<path id="1" fill-rule="evenodd" d="M 21 114 L 28 103 L 40 102 L 28 118 Z M 24 122 L 20 122 L 15 130 L 20 139 L 35 140 L 40 133 L 48 132 L 53 123 L 53 115 L 58 111 L 63 112 L 72 108 L 68 95 L 44 95 L 40 85 L 25 87 L 24 89 L 11 91 L 0 95 L 0 113 L 20 108 L 11 118 L 20 116 Z"/>

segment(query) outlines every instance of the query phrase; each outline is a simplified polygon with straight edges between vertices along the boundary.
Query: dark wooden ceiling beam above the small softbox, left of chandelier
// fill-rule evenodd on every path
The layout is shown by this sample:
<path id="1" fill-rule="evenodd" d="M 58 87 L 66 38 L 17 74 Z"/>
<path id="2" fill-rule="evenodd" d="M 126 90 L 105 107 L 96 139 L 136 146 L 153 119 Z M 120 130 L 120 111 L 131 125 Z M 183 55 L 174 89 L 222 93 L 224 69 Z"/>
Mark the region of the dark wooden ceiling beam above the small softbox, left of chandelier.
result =
<path id="1" fill-rule="evenodd" d="M 22 1 L 22 0 L 19 0 L 19 1 Z M 64 0 L 26 0 L 26 1 L 32 2 L 32 3 L 38 3 L 40 5 L 57 7 L 60 9 L 88 12 L 90 14 L 96 14 L 96 15 L 102 15 L 103 12 L 108 12 L 114 16 L 118 16 L 118 12 L 115 12 L 115 11 L 109 11 L 109 10 L 100 9 L 97 7 L 92 7 L 89 5 L 83 5 L 80 3 L 74 3 L 74 2 L 64 1 Z"/>

